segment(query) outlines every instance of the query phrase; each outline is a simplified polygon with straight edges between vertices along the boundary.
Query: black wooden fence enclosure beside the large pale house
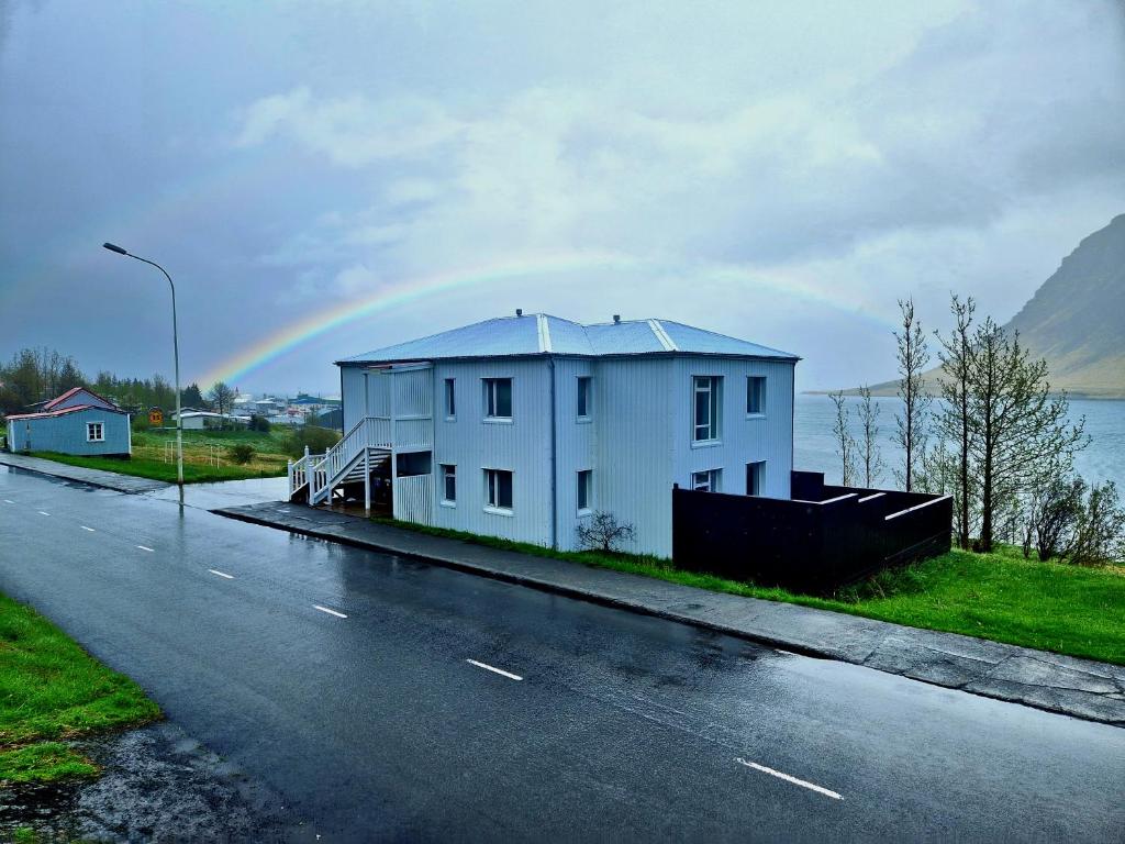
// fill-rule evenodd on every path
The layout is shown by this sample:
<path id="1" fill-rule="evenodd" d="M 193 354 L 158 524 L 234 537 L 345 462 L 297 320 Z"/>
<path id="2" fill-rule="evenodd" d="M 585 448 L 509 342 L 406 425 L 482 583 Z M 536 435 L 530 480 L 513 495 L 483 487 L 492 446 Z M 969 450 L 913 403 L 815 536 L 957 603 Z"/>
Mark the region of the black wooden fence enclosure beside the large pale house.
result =
<path id="1" fill-rule="evenodd" d="M 672 491 L 673 559 L 801 592 L 829 592 L 880 568 L 950 549 L 948 496 L 830 486 L 794 472 L 792 500 Z"/>

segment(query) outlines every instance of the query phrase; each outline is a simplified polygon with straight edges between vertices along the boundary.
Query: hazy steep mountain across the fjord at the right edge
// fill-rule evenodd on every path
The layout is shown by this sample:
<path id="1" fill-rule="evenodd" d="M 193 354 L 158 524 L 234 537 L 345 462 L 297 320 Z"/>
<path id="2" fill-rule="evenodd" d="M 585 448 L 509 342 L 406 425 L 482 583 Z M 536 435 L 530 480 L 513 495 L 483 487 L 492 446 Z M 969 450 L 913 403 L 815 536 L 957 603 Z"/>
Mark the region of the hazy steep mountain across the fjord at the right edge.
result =
<path id="1" fill-rule="evenodd" d="M 1125 398 L 1125 214 L 1084 237 L 1005 327 L 1046 358 L 1053 388 Z M 937 375 L 926 374 L 934 389 Z M 897 389 L 894 380 L 871 387 L 873 395 Z"/>

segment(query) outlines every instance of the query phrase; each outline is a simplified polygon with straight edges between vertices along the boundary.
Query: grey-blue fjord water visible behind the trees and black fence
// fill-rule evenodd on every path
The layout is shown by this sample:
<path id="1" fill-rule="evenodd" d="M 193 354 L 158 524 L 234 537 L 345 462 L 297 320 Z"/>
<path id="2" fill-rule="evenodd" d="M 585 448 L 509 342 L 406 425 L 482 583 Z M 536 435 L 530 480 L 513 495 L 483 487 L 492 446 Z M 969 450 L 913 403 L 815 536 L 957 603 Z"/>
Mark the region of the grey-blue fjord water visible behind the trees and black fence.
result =
<path id="1" fill-rule="evenodd" d="M 845 399 L 850 411 L 850 428 L 860 436 L 860 399 Z M 885 468 L 874 484 L 896 487 L 894 469 L 901 469 L 902 450 L 892 441 L 894 416 L 901 413 L 902 401 L 897 397 L 873 398 L 879 405 L 880 449 Z M 1078 455 L 1074 468 L 1087 481 L 1114 481 L 1125 494 L 1125 401 L 1090 401 L 1072 398 L 1070 415 L 1073 420 L 1086 417 L 1086 432 L 1094 438 L 1090 446 Z M 836 408 L 825 395 L 798 395 L 793 420 L 793 467 L 809 472 L 824 472 L 825 481 L 840 482 L 840 459 L 836 454 L 832 423 Z"/>

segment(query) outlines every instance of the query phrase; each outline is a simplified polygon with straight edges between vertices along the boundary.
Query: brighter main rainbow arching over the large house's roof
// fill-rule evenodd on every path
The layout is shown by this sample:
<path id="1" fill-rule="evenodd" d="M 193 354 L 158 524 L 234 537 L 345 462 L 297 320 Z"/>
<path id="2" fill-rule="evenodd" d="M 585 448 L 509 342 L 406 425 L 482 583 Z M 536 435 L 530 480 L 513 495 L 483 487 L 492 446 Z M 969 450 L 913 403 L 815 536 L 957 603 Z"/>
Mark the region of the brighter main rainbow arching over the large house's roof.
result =
<path id="1" fill-rule="evenodd" d="M 667 277 L 709 279 L 723 285 L 747 285 L 770 289 L 799 300 L 816 303 L 846 312 L 852 317 L 890 329 L 892 323 L 880 318 L 871 307 L 854 299 L 843 299 L 826 294 L 813 279 L 793 272 L 758 273 L 731 266 L 699 264 L 676 267 L 612 252 L 564 252 L 540 254 L 533 258 L 492 263 L 472 269 L 450 270 L 413 278 L 381 287 L 360 299 L 335 304 L 299 322 L 259 340 L 199 376 L 200 385 L 215 381 L 236 384 L 255 370 L 282 358 L 294 349 L 349 323 L 375 316 L 396 307 L 408 305 L 435 294 L 474 285 L 504 281 L 531 276 L 546 276 L 582 270 L 637 270 L 647 269 Z"/>

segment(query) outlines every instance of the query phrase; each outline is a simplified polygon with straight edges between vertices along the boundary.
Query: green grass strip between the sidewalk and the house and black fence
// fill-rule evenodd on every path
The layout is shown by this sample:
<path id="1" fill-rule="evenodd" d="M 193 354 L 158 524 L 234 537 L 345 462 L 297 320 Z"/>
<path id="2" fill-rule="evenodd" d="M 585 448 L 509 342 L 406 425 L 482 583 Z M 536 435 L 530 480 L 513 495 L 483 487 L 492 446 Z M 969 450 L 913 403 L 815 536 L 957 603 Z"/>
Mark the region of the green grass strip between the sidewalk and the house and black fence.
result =
<path id="1" fill-rule="evenodd" d="M 1012 548 L 1001 548 L 993 554 L 955 550 L 904 568 L 882 572 L 831 596 L 820 598 L 684 572 L 669 560 L 656 557 L 556 551 L 389 519 L 377 521 L 712 592 L 785 601 L 1125 665 L 1125 568 L 1082 568 L 1025 560 Z"/>

